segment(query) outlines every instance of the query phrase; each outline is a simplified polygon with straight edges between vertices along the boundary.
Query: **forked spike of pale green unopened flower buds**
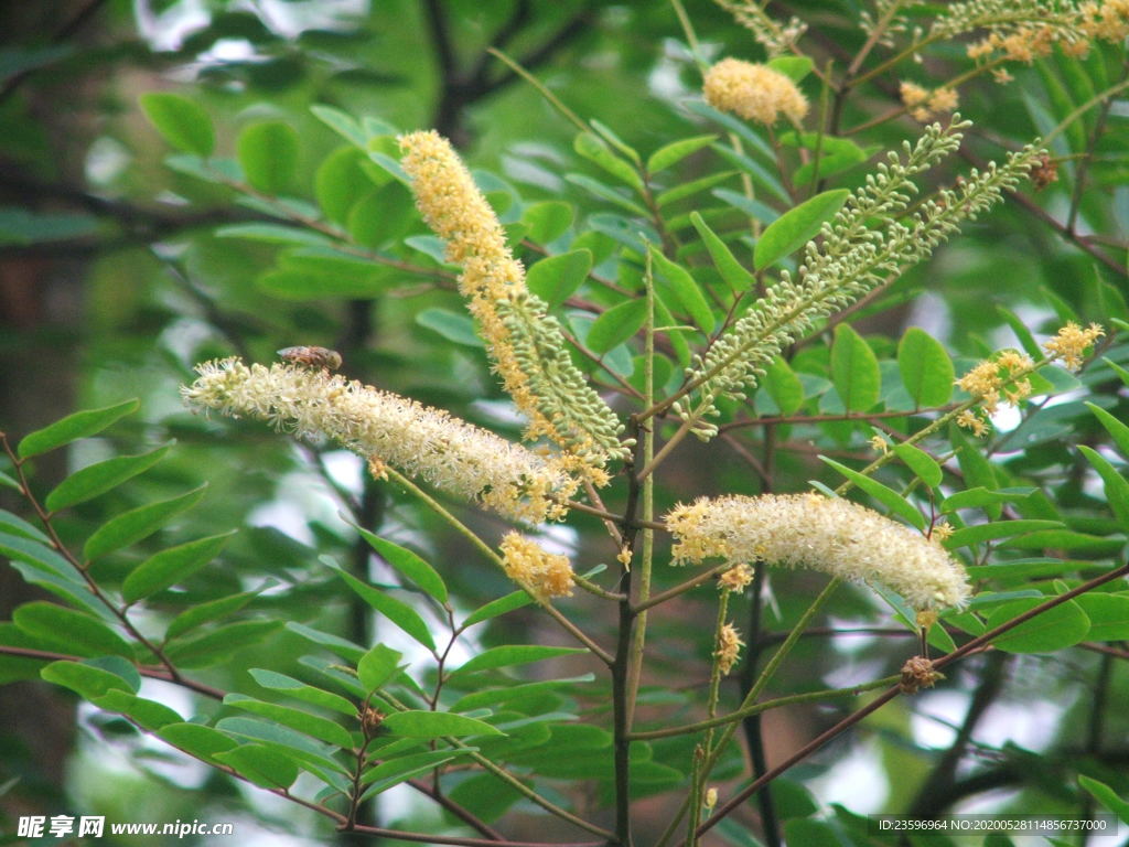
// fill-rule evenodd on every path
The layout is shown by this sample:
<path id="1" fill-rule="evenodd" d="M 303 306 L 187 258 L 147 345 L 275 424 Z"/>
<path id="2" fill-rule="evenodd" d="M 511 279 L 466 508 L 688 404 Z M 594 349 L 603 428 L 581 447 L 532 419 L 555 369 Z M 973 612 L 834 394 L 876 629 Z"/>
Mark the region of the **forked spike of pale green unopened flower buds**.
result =
<path id="1" fill-rule="evenodd" d="M 693 424 L 695 435 L 704 439 L 716 434 L 706 418 L 717 414 L 718 398 L 744 398 L 744 390 L 756 384 L 785 347 L 819 320 L 926 259 L 962 221 L 975 219 L 1005 189 L 1015 187 L 1040 154 L 1026 147 L 1008 155 L 1003 165 L 989 163 L 983 171 L 974 169 L 956 189 L 942 190 L 907 216 L 918 191 L 913 177 L 955 151 L 968 125 L 954 115 L 948 126 L 926 126 L 916 146 L 905 145 L 902 157 L 889 154 L 823 225 L 819 237 L 808 242 L 796 274 L 781 271 L 780 281 L 755 308 L 718 337 L 704 356 L 694 357 L 694 367 L 688 372 L 693 395 L 672 408 Z"/>

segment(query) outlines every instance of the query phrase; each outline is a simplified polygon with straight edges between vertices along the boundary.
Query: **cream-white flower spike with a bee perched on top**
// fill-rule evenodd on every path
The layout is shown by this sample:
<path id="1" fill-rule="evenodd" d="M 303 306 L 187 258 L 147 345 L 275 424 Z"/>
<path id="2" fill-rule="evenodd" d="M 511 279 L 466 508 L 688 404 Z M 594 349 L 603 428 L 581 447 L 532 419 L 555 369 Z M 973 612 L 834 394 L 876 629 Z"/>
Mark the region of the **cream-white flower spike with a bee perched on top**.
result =
<path id="1" fill-rule="evenodd" d="M 299 436 L 324 436 L 369 460 L 515 521 L 564 516 L 577 487 L 559 463 L 445 411 L 343 376 L 290 364 L 208 361 L 181 394 L 192 408 L 264 420 Z"/>

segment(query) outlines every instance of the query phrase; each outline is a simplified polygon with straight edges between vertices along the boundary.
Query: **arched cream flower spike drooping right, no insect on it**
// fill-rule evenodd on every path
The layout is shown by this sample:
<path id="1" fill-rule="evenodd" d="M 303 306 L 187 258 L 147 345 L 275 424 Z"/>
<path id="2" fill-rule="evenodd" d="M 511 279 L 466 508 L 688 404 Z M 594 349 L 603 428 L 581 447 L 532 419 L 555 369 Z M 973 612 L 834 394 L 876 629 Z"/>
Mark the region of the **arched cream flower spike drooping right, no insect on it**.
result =
<path id="1" fill-rule="evenodd" d="M 674 561 L 720 557 L 808 567 L 893 588 L 916 609 L 960 606 L 964 569 L 939 544 L 877 512 L 822 495 L 701 498 L 666 516 Z"/>

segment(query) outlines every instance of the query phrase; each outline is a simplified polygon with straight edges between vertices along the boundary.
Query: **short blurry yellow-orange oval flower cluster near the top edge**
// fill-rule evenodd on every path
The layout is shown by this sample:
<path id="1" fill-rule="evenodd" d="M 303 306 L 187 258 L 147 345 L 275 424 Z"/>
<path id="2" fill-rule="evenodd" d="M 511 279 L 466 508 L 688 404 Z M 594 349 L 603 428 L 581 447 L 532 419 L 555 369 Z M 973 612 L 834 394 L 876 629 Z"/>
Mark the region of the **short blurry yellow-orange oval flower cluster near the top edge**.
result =
<path id="1" fill-rule="evenodd" d="M 706 102 L 719 112 L 771 126 L 780 117 L 799 123 L 807 114 L 807 98 L 796 84 L 767 64 L 723 59 L 706 72 Z"/>

